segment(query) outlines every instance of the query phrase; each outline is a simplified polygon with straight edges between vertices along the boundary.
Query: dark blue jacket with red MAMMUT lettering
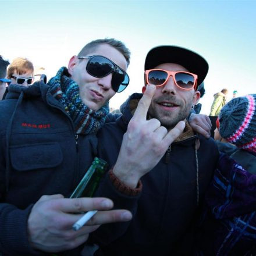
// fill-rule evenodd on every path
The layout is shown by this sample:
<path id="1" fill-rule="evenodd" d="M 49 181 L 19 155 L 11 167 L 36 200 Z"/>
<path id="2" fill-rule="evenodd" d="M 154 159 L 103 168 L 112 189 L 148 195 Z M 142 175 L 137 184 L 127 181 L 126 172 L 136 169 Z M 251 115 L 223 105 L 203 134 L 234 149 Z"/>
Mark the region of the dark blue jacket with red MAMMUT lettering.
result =
<path id="1" fill-rule="evenodd" d="M 96 154 L 95 135 L 76 136 L 72 120 L 43 81 L 12 84 L 0 102 L 0 252 L 41 255 L 27 219 L 41 195 L 69 197 Z M 75 254 L 73 254 L 75 255 Z"/>

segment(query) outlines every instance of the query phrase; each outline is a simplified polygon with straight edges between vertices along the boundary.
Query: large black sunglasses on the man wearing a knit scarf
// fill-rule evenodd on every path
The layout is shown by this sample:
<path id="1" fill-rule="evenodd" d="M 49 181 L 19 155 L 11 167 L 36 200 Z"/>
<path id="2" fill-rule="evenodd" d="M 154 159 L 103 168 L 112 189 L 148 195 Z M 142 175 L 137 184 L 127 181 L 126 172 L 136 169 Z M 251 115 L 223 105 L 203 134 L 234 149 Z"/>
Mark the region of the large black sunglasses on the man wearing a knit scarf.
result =
<path id="1" fill-rule="evenodd" d="M 128 74 L 110 59 L 101 55 L 81 56 L 79 59 L 89 59 L 86 70 L 91 76 L 101 78 L 112 73 L 111 86 L 116 93 L 121 93 L 128 86 Z"/>

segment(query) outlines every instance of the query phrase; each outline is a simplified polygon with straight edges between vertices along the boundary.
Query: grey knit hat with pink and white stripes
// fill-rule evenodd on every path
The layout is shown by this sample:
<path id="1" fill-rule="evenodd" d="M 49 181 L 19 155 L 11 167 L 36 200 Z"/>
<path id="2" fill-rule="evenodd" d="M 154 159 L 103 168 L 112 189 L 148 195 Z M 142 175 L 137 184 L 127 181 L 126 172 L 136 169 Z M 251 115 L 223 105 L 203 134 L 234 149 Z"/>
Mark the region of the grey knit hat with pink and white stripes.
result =
<path id="1" fill-rule="evenodd" d="M 229 143 L 256 152 L 256 94 L 233 98 L 219 114 L 219 133 Z"/>

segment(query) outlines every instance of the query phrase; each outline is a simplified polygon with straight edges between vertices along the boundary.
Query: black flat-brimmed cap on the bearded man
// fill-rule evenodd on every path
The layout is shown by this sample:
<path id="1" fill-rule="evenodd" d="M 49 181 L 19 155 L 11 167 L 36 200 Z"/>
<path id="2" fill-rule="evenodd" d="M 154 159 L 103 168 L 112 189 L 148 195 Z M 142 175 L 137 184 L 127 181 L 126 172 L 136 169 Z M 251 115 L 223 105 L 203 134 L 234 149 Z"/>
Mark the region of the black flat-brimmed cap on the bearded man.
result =
<path id="1" fill-rule="evenodd" d="M 177 63 L 189 72 L 197 74 L 197 87 L 204 81 L 209 69 L 207 61 L 201 55 L 174 45 L 160 45 L 152 48 L 145 59 L 145 70 L 154 69 L 162 63 Z"/>

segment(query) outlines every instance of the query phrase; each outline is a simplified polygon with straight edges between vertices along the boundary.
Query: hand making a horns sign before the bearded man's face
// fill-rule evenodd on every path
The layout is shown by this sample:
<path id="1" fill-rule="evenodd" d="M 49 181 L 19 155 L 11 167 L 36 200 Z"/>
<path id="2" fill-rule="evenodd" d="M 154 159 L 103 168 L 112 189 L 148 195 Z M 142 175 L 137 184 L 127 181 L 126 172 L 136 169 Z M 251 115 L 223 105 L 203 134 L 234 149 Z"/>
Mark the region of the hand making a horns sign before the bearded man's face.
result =
<path id="1" fill-rule="evenodd" d="M 157 165 L 169 145 L 184 130 L 180 121 L 168 132 L 157 119 L 147 120 L 155 86 L 148 85 L 123 136 L 113 173 L 127 186 L 135 188 L 140 177 Z"/>

